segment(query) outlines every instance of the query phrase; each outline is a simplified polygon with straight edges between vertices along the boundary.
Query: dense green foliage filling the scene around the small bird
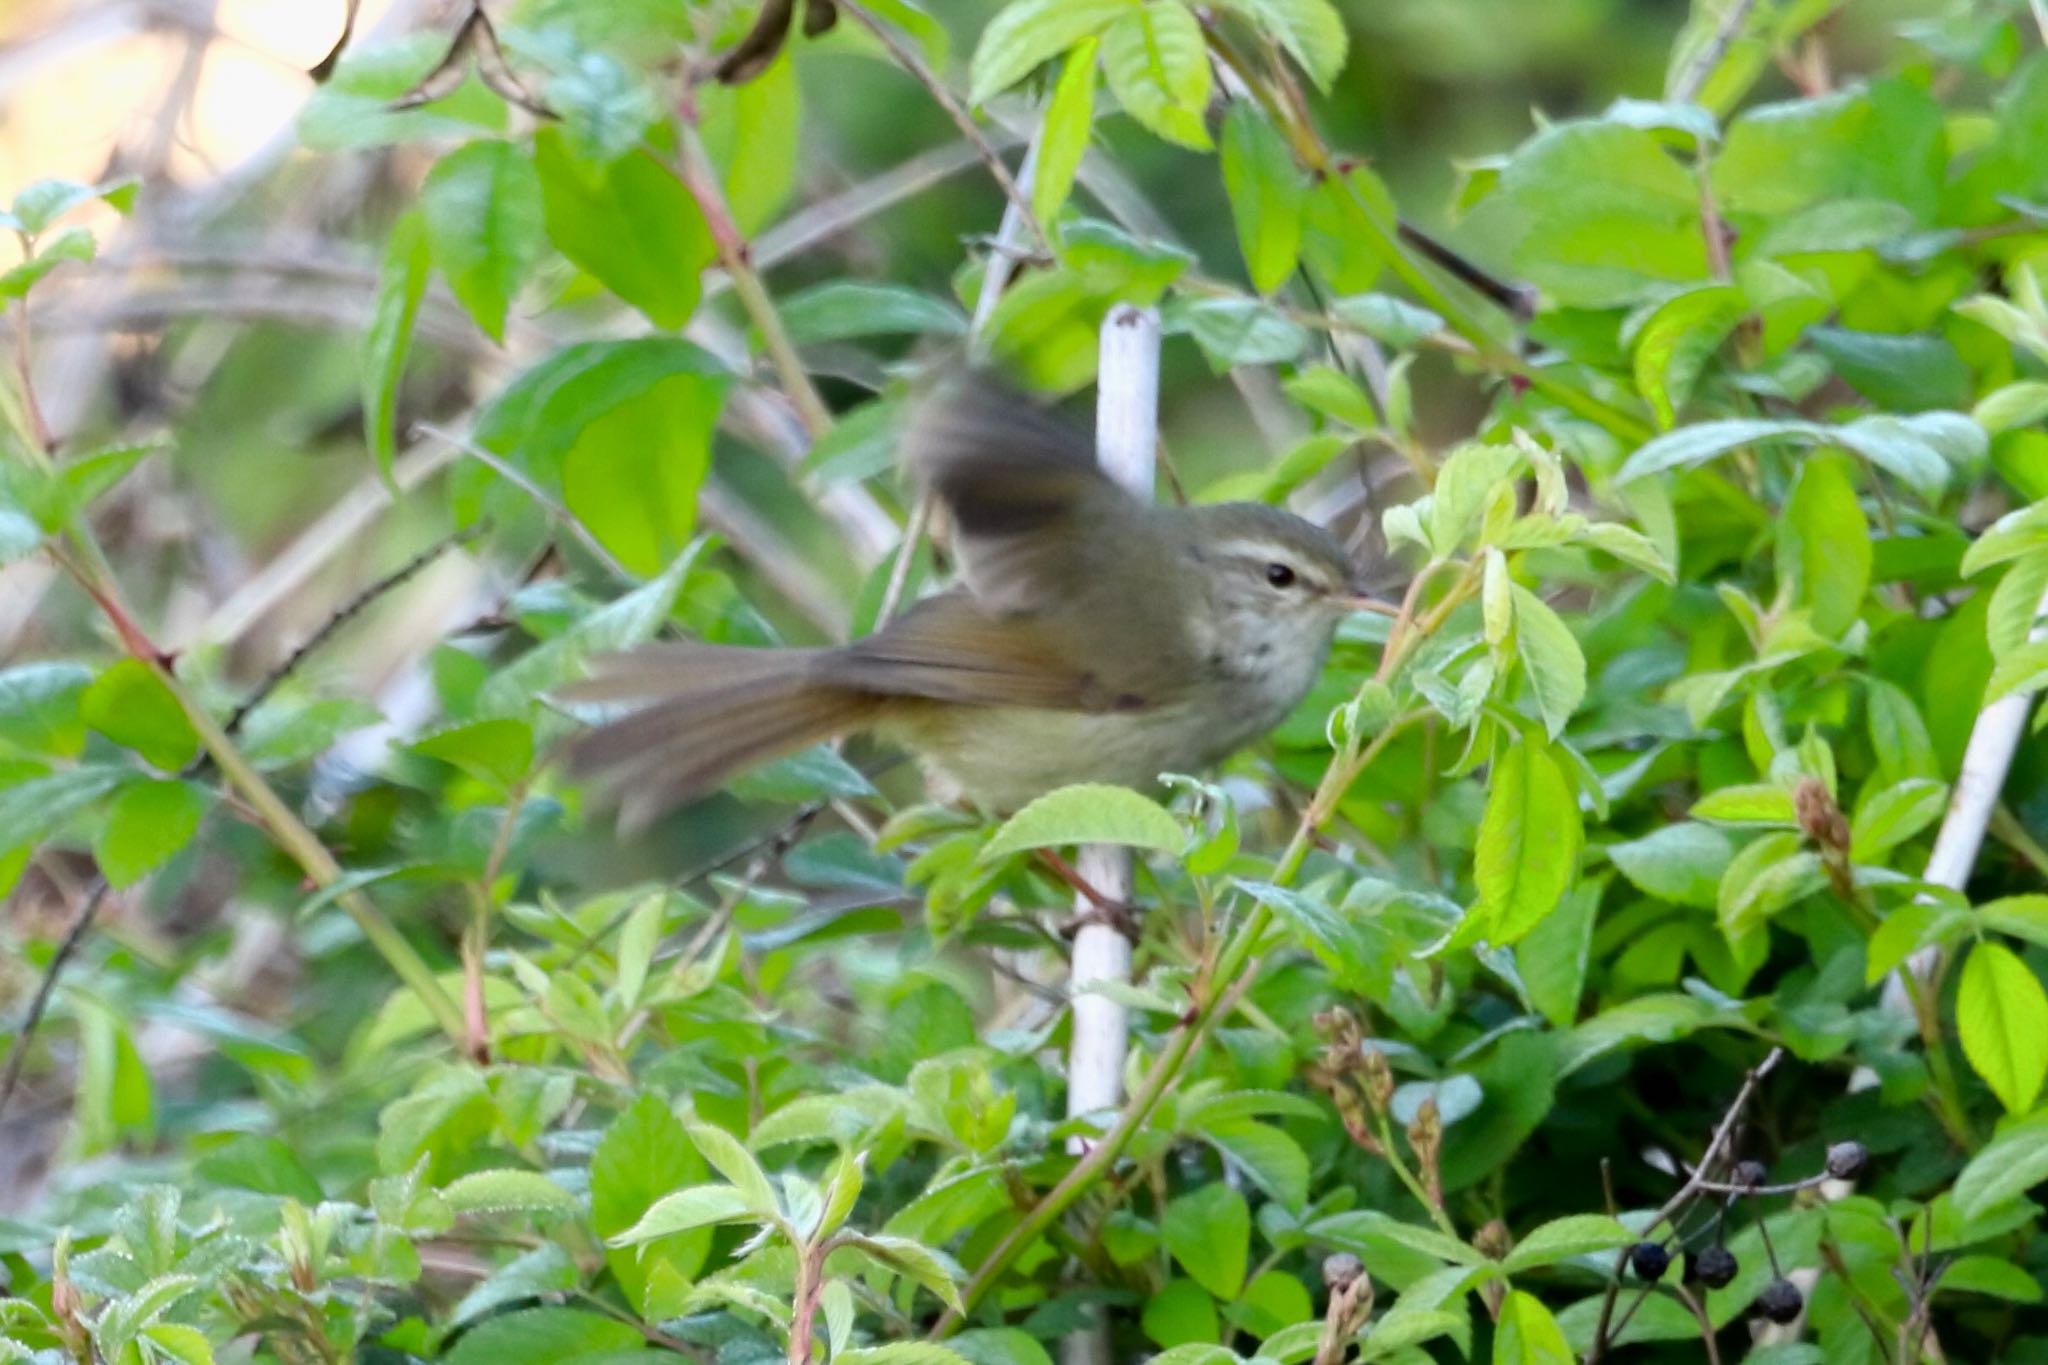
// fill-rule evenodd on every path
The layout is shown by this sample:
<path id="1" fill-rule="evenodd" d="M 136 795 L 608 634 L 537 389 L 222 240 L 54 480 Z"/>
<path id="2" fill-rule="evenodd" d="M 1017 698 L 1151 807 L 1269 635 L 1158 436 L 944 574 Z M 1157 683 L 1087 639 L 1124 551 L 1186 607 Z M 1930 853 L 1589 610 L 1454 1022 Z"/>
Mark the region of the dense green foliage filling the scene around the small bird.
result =
<path id="1" fill-rule="evenodd" d="M 0 551 L 55 581 L 0 671 L 0 1140 L 51 1171 L 0 1361 L 2048 1361 L 2038 726 L 1925 878 L 2048 681 L 2038 6 L 1671 12 L 1661 88 L 1460 164 L 1509 284 L 1333 145 L 1378 18 L 1331 0 L 764 8 L 356 35 L 244 207 L 377 168 L 342 362 L 199 319 L 78 430 L 8 389 Z M 979 125 L 999 239 L 993 182 L 805 174 L 848 68 Z M 152 192 L 23 188 L 18 319 Z M 1163 802 L 987 823 L 854 745 L 618 843 L 553 690 L 940 581 L 913 379 L 1081 395 L 1126 303 L 1167 495 L 1339 516 L 1401 614 Z M 305 649 L 238 647 L 293 593 Z M 1128 1101 L 1069 1119 L 1036 851 L 1090 841 L 1143 931 Z"/>

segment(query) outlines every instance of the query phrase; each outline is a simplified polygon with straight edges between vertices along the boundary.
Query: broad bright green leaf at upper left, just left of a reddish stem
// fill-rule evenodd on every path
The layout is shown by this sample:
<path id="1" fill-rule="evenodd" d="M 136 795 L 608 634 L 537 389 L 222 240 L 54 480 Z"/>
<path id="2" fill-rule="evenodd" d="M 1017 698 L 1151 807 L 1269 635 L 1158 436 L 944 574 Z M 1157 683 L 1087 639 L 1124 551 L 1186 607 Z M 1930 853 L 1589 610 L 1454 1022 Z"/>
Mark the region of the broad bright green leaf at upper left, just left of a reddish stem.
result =
<path id="1" fill-rule="evenodd" d="M 578 162 L 559 129 L 535 133 L 547 237 L 657 327 L 690 321 L 719 252 L 696 201 L 649 151 Z"/>

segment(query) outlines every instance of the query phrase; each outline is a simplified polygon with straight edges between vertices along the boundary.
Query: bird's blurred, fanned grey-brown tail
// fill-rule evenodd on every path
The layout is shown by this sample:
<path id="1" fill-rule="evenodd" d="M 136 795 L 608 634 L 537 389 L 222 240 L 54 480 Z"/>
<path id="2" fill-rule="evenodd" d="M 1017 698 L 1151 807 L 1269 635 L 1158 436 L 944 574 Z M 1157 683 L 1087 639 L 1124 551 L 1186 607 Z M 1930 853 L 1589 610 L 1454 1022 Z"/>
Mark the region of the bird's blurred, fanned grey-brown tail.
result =
<path id="1" fill-rule="evenodd" d="M 653 645 L 598 661 L 571 702 L 637 708 L 569 741 L 569 769 L 600 780 L 641 829 L 748 767 L 856 731 L 877 698 L 817 679 L 821 649 Z"/>

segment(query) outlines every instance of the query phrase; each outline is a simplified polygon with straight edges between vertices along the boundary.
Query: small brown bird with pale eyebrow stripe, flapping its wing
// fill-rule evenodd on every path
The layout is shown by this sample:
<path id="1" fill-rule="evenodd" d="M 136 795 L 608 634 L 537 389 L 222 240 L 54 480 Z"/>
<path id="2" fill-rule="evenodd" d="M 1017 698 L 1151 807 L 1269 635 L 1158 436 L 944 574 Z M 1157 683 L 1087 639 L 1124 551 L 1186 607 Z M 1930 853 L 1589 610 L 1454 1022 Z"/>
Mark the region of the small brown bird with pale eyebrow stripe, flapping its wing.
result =
<path id="1" fill-rule="evenodd" d="M 852 645 L 649 645 L 565 692 L 639 706 L 569 747 L 625 825 L 856 731 L 991 812 L 1071 782 L 1151 788 L 1278 724 L 1337 622 L 1386 610 L 1321 526 L 1141 501 L 1083 432 L 985 377 L 920 411 L 905 460 L 952 522 L 958 587 Z"/>

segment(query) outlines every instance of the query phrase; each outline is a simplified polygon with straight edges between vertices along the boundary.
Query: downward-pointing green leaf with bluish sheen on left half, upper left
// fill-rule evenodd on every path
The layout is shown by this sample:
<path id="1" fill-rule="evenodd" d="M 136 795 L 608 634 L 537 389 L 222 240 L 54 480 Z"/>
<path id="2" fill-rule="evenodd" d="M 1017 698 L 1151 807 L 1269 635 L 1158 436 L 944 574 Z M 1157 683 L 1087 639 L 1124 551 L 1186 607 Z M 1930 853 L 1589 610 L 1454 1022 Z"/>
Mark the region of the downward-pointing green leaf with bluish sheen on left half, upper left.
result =
<path id="1" fill-rule="evenodd" d="M 449 289 L 494 342 L 545 237 L 541 176 L 512 143 L 473 141 L 434 164 L 420 186 L 426 244 Z"/>

